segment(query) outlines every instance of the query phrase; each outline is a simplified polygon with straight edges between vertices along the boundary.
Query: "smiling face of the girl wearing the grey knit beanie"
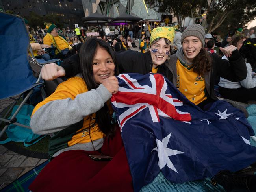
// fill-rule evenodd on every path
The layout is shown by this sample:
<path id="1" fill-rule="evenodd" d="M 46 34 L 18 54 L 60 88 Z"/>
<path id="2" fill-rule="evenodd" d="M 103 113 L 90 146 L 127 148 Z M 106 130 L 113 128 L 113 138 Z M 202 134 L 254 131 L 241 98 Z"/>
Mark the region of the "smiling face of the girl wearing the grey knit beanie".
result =
<path id="1" fill-rule="evenodd" d="M 199 54 L 202 49 L 202 42 L 194 36 L 186 37 L 182 43 L 185 60 L 187 63 L 192 63 L 193 59 Z"/>

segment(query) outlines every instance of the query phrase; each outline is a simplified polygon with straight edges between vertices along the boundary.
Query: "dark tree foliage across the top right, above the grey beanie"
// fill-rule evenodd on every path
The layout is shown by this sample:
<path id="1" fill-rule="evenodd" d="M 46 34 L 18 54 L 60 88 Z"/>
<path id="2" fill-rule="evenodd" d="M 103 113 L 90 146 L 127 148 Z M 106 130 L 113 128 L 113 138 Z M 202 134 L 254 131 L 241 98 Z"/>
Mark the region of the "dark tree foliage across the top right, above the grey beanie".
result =
<path id="1" fill-rule="evenodd" d="M 158 12 L 173 13 L 178 24 L 191 17 L 193 22 L 201 15 L 201 10 L 207 12 L 208 33 L 222 25 L 245 26 L 256 17 L 255 0 L 145 0 L 151 8 L 158 7 Z"/>

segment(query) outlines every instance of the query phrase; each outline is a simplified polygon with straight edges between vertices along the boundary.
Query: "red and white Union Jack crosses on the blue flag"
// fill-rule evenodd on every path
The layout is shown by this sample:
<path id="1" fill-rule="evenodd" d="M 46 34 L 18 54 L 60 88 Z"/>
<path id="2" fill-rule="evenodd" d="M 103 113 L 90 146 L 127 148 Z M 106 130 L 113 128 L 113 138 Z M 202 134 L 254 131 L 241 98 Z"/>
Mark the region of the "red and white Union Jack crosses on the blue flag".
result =
<path id="1" fill-rule="evenodd" d="M 117 108 L 128 108 L 119 115 L 119 126 L 124 126 L 125 122 L 137 113 L 148 107 L 153 122 L 159 122 L 159 116 L 173 118 L 188 122 L 191 116 L 187 112 L 179 111 L 175 106 L 182 106 L 182 101 L 167 94 L 167 83 L 160 74 L 150 74 L 151 87 L 140 85 L 136 79 L 128 74 L 120 74 L 128 87 L 119 87 L 115 97 L 111 102 Z M 156 86 L 157 85 L 157 86 Z M 140 98 L 143 98 L 141 102 Z"/>

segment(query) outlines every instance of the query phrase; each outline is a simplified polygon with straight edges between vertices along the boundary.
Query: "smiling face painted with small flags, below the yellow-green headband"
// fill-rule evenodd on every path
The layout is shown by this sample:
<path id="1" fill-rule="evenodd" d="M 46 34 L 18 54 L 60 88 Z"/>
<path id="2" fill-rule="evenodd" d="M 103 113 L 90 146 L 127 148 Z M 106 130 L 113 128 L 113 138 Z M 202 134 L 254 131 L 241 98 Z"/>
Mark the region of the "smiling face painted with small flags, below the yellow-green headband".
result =
<path id="1" fill-rule="evenodd" d="M 152 44 L 149 50 L 151 52 L 151 59 L 154 68 L 156 68 L 158 65 L 162 65 L 166 61 L 170 48 L 171 46 L 165 43 L 164 38 L 161 38 L 160 41 Z"/>

